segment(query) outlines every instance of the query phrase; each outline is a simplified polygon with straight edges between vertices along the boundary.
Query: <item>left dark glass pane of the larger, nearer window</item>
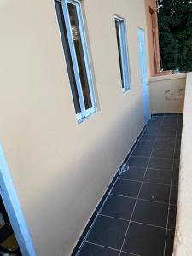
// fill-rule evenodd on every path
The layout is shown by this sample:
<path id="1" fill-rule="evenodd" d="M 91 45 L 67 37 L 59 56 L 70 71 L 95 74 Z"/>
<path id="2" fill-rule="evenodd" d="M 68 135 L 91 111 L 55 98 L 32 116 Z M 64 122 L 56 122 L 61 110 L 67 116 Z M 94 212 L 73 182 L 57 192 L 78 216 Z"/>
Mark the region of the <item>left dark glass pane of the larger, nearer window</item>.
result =
<path id="1" fill-rule="evenodd" d="M 69 76 L 72 94 L 73 94 L 75 113 L 80 113 L 81 108 L 79 103 L 79 95 L 78 95 L 77 84 L 74 76 L 72 57 L 70 54 L 70 49 L 69 49 L 69 44 L 67 39 L 67 31 L 66 31 L 63 12 L 62 12 L 61 2 L 55 1 L 55 8 L 56 8 L 56 14 L 57 14 L 57 18 L 60 26 L 62 45 L 63 45 L 65 58 L 67 62 L 67 71 L 68 71 L 68 76 Z"/>

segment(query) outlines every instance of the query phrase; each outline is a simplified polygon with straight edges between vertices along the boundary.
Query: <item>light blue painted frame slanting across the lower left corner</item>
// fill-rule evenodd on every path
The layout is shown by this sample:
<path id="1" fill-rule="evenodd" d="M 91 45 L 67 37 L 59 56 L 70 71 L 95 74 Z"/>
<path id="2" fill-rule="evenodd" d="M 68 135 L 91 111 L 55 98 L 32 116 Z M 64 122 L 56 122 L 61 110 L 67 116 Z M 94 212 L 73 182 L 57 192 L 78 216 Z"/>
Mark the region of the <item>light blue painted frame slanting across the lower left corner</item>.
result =
<path id="1" fill-rule="evenodd" d="M 15 232 L 15 237 L 20 246 L 20 251 L 25 256 L 36 256 L 35 248 L 32 243 L 32 237 L 26 225 L 26 219 L 20 207 L 20 201 L 15 190 L 12 177 L 9 172 L 9 166 L 3 154 L 3 148 L 0 145 L 0 193 L 3 203 L 9 216 L 10 223 Z"/>

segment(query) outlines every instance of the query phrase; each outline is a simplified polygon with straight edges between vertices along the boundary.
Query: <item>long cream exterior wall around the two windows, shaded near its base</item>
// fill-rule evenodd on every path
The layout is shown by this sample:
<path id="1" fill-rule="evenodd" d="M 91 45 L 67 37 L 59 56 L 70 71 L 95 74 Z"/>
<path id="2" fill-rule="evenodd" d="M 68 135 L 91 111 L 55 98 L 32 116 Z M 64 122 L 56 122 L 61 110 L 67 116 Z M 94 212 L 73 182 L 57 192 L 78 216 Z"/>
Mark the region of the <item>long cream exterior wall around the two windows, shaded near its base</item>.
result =
<path id="1" fill-rule="evenodd" d="M 53 0 L 0 3 L 0 143 L 39 256 L 69 255 L 143 129 L 144 0 L 84 0 L 99 110 L 78 125 Z M 127 20 L 122 93 L 114 14 Z"/>

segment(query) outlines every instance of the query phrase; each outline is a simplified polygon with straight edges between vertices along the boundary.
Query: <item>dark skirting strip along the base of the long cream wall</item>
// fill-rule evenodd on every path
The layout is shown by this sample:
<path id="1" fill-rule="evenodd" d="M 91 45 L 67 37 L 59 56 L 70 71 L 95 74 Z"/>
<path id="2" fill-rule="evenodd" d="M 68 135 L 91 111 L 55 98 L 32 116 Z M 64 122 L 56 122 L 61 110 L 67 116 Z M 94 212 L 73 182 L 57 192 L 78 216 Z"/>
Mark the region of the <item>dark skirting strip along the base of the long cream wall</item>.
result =
<path id="1" fill-rule="evenodd" d="M 116 172 L 115 176 L 113 177 L 112 182 L 108 185 L 108 189 L 106 190 L 105 194 L 102 196 L 102 200 L 99 202 L 98 206 L 96 207 L 95 212 L 93 212 L 92 216 L 90 217 L 90 220 L 89 220 L 88 224 L 86 225 L 86 227 L 84 228 L 84 231 L 82 232 L 82 235 L 80 236 L 79 241 L 77 242 L 76 246 L 74 247 L 73 253 L 71 254 L 71 256 L 75 256 L 75 255 L 77 255 L 77 253 L 79 253 L 79 248 L 82 246 L 84 238 L 86 237 L 88 231 L 90 230 L 91 225 L 96 221 L 97 213 L 101 211 L 103 202 L 107 199 L 108 194 L 113 187 L 113 184 L 116 182 L 117 178 L 119 177 L 121 167 L 125 163 L 127 163 L 127 160 L 131 156 L 133 149 L 136 147 L 136 144 L 138 143 L 140 137 L 142 137 L 145 127 L 146 127 L 146 125 L 143 127 L 143 130 L 140 132 L 139 136 L 137 137 L 136 142 L 133 144 L 133 146 L 131 147 L 131 150 L 126 155 L 123 164 L 120 166 L 119 170 Z"/>

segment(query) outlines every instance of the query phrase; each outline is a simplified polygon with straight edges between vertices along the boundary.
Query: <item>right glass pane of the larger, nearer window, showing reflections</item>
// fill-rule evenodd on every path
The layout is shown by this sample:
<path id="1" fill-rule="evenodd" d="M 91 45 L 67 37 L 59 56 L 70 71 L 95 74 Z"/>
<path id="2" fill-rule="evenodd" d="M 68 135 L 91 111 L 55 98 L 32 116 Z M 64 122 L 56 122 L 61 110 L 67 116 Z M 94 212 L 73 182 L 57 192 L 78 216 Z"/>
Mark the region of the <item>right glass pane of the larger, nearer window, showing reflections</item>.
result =
<path id="1" fill-rule="evenodd" d="M 82 41 L 81 41 L 81 36 L 79 31 L 77 9 L 76 9 L 76 6 L 73 5 L 72 3 L 67 3 L 67 6 L 68 6 L 68 13 L 70 17 L 71 29 L 73 34 L 73 43 L 74 43 L 75 52 L 76 52 L 77 61 L 78 61 L 79 76 L 81 79 L 81 86 L 82 86 L 83 95 L 84 95 L 84 105 L 85 105 L 85 109 L 89 109 L 92 107 L 92 102 L 90 99 L 90 88 L 89 88 L 89 83 L 88 83 L 88 78 L 86 73 L 86 67 L 84 63 L 84 52 L 83 52 L 83 46 L 82 46 Z"/>

